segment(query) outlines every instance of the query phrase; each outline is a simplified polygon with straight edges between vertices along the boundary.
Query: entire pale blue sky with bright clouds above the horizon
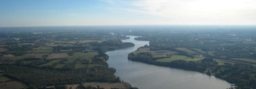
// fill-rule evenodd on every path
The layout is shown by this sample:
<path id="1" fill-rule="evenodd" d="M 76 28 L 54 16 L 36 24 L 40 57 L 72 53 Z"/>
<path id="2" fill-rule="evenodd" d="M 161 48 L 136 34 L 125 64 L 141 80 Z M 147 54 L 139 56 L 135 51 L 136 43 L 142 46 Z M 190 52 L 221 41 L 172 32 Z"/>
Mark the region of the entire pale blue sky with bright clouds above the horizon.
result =
<path id="1" fill-rule="evenodd" d="M 0 27 L 256 25 L 256 0 L 0 0 Z"/>

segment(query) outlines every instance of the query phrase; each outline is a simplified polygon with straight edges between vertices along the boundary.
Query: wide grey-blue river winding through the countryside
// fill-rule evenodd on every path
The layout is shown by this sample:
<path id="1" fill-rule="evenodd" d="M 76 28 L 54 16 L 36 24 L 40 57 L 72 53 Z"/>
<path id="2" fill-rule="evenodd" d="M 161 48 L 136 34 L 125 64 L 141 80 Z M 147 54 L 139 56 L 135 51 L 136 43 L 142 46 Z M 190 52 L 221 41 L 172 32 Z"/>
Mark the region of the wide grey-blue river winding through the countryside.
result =
<path id="1" fill-rule="evenodd" d="M 149 65 L 127 59 L 128 53 L 138 47 L 149 45 L 149 41 L 134 40 L 137 36 L 127 36 L 123 42 L 134 43 L 135 46 L 115 51 L 108 51 L 109 67 L 116 69 L 115 76 L 128 82 L 132 87 L 140 89 L 226 89 L 230 83 L 204 73 Z M 162 72 L 164 70 L 164 72 Z"/>

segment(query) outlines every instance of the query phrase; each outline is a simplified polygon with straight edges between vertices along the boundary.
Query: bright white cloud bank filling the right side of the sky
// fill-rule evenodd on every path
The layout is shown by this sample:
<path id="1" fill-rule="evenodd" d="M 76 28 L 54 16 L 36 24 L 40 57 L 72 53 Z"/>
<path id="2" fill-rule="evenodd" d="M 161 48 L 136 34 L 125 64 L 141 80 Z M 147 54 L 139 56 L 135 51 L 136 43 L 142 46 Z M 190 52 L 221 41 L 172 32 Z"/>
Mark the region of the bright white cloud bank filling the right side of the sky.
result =
<path id="1" fill-rule="evenodd" d="M 256 0 L 107 1 L 114 10 L 155 15 L 180 24 L 256 24 Z"/>

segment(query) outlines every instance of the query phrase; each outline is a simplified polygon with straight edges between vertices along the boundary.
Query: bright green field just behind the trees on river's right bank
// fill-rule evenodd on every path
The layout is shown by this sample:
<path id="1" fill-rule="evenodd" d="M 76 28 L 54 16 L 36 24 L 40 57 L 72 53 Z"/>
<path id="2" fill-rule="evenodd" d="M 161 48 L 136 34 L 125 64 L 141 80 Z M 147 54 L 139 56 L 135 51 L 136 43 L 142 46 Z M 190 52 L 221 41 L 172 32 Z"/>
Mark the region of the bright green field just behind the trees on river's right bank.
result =
<path id="1" fill-rule="evenodd" d="M 185 55 L 173 55 L 173 56 L 171 56 L 171 58 L 163 58 L 163 59 L 158 59 L 156 61 L 158 61 L 158 62 L 171 62 L 171 61 L 174 61 L 174 60 L 198 61 L 198 60 L 202 60 L 202 59 L 201 58 L 191 59 L 191 58 L 188 58 Z"/>

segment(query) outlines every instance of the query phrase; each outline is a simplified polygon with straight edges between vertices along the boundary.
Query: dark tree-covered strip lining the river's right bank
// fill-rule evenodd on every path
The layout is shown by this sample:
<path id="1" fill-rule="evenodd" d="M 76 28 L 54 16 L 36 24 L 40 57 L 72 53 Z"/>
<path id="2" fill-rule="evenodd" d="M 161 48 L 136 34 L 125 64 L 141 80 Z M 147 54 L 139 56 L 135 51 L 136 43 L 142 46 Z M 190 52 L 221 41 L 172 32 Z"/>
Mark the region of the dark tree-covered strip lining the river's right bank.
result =
<path id="1" fill-rule="evenodd" d="M 131 52 L 128 54 L 128 60 L 143 62 L 157 66 L 197 71 L 205 73 L 207 75 L 213 75 L 229 83 L 233 83 L 239 88 L 254 87 L 253 83 L 248 83 L 249 81 L 254 81 L 253 79 L 249 79 L 249 76 L 253 75 L 253 72 L 248 72 L 248 75 L 244 74 L 244 72 L 248 71 L 248 69 L 255 69 L 253 66 L 250 65 L 218 65 L 216 61 L 209 58 L 205 58 L 201 61 L 184 61 L 185 59 L 180 59 L 170 62 L 158 62 L 154 60 L 153 56 L 149 52 L 140 52 L 138 54 L 134 54 L 133 52 Z"/>

